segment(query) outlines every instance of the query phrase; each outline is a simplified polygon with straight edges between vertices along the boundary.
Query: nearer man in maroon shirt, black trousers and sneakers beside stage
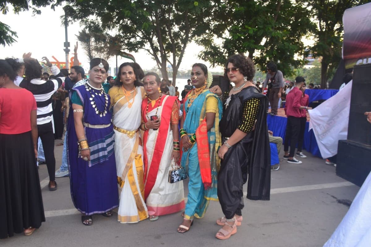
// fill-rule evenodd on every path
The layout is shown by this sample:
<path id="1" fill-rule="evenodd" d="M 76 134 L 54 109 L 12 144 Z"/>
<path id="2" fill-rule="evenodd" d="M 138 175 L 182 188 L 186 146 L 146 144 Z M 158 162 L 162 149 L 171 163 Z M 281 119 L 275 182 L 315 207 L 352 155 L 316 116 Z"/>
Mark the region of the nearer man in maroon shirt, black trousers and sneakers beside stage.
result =
<path id="1" fill-rule="evenodd" d="M 300 119 L 302 117 L 301 110 L 307 110 L 307 106 L 301 105 L 303 92 L 300 90 L 305 79 L 301 76 L 295 78 L 295 87 L 286 96 L 285 113 L 287 116 L 286 136 L 284 141 L 285 155 L 283 158 L 288 159 L 288 163 L 301 164 L 302 161 L 294 158 L 295 147 L 298 143 L 300 133 Z M 290 142 L 290 154 L 289 154 Z"/>

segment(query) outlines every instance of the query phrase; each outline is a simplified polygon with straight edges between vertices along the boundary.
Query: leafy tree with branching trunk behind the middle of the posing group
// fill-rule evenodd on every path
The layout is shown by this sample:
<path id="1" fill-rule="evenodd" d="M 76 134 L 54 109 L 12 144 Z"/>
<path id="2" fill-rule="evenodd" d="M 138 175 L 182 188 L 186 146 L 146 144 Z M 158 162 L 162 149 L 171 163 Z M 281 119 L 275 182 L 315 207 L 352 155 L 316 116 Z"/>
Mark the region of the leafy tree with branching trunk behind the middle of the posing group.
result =
<path id="1" fill-rule="evenodd" d="M 89 31 L 114 30 L 124 41 L 125 50 L 146 50 L 165 79 L 170 64 L 174 83 L 185 47 L 207 29 L 205 18 L 211 7 L 206 0 L 67 2 L 70 19 L 81 21 Z"/>

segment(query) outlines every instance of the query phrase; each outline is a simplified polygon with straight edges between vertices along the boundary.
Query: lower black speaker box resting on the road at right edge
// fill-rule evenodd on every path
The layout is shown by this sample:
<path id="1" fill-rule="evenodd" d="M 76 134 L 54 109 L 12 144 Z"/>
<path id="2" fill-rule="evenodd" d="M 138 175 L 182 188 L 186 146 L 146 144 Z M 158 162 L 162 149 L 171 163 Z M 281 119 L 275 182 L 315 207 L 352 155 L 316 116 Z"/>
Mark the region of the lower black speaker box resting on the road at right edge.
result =
<path id="1" fill-rule="evenodd" d="M 336 157 L 336 175 L 361 187 L 371 171 L 370 157 L 371 146 L 340 140 Z"/>

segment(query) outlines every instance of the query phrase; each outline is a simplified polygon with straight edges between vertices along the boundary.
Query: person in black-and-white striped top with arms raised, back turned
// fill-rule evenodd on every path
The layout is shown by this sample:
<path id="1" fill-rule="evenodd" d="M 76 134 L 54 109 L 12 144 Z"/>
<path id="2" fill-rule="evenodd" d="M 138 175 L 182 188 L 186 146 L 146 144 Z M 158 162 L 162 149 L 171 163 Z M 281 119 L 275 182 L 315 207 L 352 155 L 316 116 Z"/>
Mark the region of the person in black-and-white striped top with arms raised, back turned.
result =
<path id="1" fill-rule="evenodd" d="M 53 74 L 58 74 L 59 69 L 52 66 L 46 57 L 43 57 L 45 64 L 50 67 Z M 54 156 L 54 131 L 52 124 L 52 95 L 58 90 L 62 84 L 62 80 L 42 80 L 42 67 L 36 59 L 30 56 L 24 58 L 24 65 L 26 67 L 25 79 L 19 84 L 33 94 L 37 104 L 37 130 L 41 142 L 43 144 L 45 161 L 49 173 L 49 190 L 57 189 L 55 182 L 55 156 Z"/>

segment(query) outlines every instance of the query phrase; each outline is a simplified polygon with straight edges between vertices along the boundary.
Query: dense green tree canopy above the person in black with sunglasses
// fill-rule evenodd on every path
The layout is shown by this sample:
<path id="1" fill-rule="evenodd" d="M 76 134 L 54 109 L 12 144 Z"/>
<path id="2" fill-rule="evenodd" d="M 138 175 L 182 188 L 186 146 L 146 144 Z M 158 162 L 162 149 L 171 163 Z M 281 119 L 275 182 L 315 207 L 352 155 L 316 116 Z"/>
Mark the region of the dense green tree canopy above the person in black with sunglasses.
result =
<path id="1" fill-rule="evenodd" d="M 305 64 L 301 39 L 314 28 L 309 10 L 290 0 L 227 0 L 217 5 L 211 31 L 197 40 L 205 47 L 202 59 L 223 65 L 232 54 L 248 53 L 262 71 L 272 60 L 286 75 Z"/>

